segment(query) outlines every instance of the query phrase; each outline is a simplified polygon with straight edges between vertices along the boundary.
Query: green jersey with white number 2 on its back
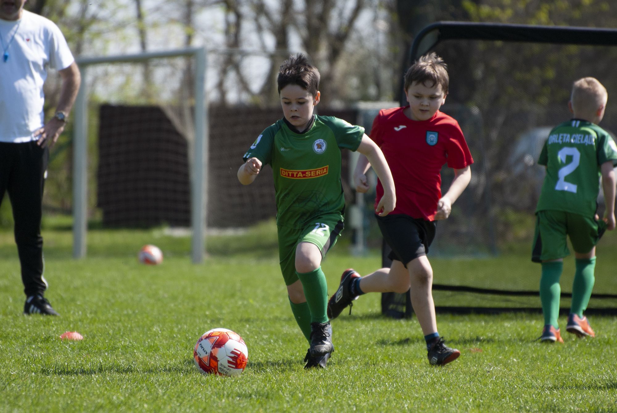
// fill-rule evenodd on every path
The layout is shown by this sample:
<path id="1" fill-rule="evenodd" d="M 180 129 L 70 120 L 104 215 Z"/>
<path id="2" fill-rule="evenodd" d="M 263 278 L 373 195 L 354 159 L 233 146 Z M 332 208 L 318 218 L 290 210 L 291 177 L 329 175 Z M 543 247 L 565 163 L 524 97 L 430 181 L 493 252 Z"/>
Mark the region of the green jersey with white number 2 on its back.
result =
<path id="1" fill-rule="evenodd" d="M 536 211 L 593 216 L 600 165 L 608 161 L 617 165 L 617 146 L 600 126 L 573 119 L 553 128 L 538 159 L 546 166 L 546 177 Z"/>

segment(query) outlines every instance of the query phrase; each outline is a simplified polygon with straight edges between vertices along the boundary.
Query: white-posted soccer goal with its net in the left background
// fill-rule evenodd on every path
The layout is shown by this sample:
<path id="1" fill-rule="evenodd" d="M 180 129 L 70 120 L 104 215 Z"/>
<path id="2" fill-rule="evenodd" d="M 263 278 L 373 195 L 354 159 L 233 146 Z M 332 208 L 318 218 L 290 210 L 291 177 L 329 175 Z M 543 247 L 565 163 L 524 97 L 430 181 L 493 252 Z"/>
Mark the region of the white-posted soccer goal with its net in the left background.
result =
<path id="1" fill-rule="evenodd" d="M 86 253 L 85 221 L 93 215 L 104 227 L 189 229 L 195 262 L 206 228 L 275 217 L 270 166 L 247 187 L 237 171 L 251 142 L 281 118 L 276 74 L 289 53 L 221 49 L 199 63 L 200 50 L 78 61 L 86 87 L 75 104 L 73 199 L 81 228 L 74 229 L 74 256 Z M 357 120 L 354 110 L 319 113 Z M 87 150 L 78 148 L 83 136 Z"/>

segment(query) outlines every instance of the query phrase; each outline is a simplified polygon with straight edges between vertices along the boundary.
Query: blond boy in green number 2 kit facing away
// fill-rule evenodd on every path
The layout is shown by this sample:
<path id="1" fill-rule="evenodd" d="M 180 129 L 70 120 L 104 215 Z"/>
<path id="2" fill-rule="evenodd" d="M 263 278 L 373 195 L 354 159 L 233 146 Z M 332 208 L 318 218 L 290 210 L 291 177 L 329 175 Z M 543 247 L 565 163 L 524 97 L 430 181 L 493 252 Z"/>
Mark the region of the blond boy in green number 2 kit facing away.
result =
<path id="1" fill-rule="evenodd" d="M 615 229 L 613 166 L 617 165 L 617 146 L 613 138 L 597 126 L 604 116 L 607 97 L 607 89 L 595 78 L 575 81 L 568 103 L 573 119 L 553 128 L 540 152 L 538 163 L 545 165 L 547 172 L 536 208 L 536 236 L 531 259 L 542 263 L 542 341 L 563 343 L 557 317 L 563 257 L 569 255 L 566 235 L 576 256 L 566 330 L 578 337 L 595 337 L 582 313 L 594 287 L 595 245 L 605 229 Z M 595 213 L 600 176 L 606 203 L 602 220 Z"/>

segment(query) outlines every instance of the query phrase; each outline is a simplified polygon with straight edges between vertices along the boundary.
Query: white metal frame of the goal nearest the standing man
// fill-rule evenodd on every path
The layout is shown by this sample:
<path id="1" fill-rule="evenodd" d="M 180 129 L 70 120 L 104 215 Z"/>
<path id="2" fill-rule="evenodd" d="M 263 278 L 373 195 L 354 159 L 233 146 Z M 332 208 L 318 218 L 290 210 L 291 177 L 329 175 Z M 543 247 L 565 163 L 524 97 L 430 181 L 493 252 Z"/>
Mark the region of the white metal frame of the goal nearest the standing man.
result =
<path id="1" fill-rule="evenodd" d="M 193 165 L 191 166 L 191 258 L 201 263 L 205 255 L 205 223 L 207 205 L 209 115 L 207 89 L 205 88 L 207 51 L 205 47 L 175 49 L 171 51 L 146 52 L 102 57 L 78 57 L 81 71 L 81 87 L 75 101 L 73 117 L 73 258 L 86 256 L 88 233 L 88 67 L 101 63 L 137 63 L 166 57 L 193 57 L 195 76 L 193 82 L 194 131 Z"/>

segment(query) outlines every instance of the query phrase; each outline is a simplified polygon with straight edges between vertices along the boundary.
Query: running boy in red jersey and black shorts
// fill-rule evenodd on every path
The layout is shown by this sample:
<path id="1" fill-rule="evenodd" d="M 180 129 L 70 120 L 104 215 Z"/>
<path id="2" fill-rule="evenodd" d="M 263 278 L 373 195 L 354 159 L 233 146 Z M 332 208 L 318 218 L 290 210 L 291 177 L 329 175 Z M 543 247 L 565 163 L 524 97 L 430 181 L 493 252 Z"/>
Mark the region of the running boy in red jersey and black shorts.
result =
<path id="1" fill-rule="evenodd" d="M 444 345 L 439 337 L 433 303 L 433 269 L 426 258 L 435 237 L 436 221 L 447 219 L 452 203 L 471 179 L 473 163 L 465 137 L 457 121 L 439 112 L 448 93 L 449 77 L 441 57 L 431 53 L 421 57 L 405 73 L 408 106 L 379 112 L 370 137 L 381 148 L 392 171 L 396 207 L 377 222 L 384 240 L 392 248 L 391 268 L 381 268 L 365 277 L 353 269 L 341 276 L 336 294 L 328 301 L 328 316 L 341 311 L 368 292 L 404 293 L 411 287 L 413 311 L 426 340 L 431 364 L 447 364 L 460 351 Z M 454 179 L 441 196 L 441 167 L 447 163 Z M 366 171 L 370 164 L 360 156 L 354 171 L 358 192 L 367 192 Z M 377 184 L 377 199 L 383 196 Z"/>

